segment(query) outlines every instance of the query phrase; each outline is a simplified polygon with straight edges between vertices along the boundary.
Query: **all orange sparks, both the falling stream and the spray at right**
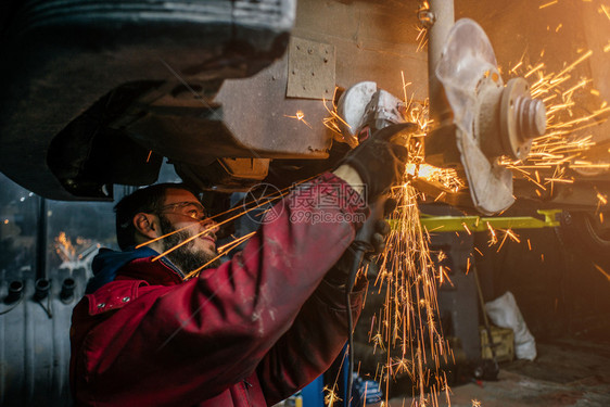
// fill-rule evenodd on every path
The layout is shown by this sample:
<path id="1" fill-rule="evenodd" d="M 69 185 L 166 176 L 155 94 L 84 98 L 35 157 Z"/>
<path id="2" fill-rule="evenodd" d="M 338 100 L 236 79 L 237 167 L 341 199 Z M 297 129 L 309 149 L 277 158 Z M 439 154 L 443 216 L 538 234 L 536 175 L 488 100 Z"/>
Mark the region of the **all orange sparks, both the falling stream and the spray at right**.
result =
<path id="1" fill-rule="evenodd" d="M 556 4 L 550 1 L 541 9 Z M 558 25 L 558 31 L 562 25 Z M 418 28 L 418 51 L 427 40 L 427 29 Z M 610 43 L 605 52 L 610 51 Z M 586 61 L 593 51 L 583 50 L 580 56 L 559 73 L 545 73 L 545 63 L 529 65 L 521 60 L 509 69 L 513 76 L 525 76 L 531 85 L 533 98 L 541 99 L 547 106 L 547 132 L 534 140 L 531 154 L 524 162 L 512 162 L 503 158 L 500 163 L 511 168 L 517 176 L 533 182 L 536 193 L 542 196 L 552 194 L 554 186 L 571 183 L 574 180 L 568 176 L 571 168 L 601 168 L 609 169 L 610 163 L 592 163 L 586 160 L 585 152 L 593 145 L 593 137 L 579 131 L 606 119 L 610 115 L 610 107 L 602 103 L 598 110 L 586 116 L 579 116 L 575 112 L 575 97 L 579 92 L 599 91 L 590 89 L 592 80 L 573 74 L 581 63 Z M 544 50 L 541 56 L 544 55 Z M 411 136 L 409 162 L 405 168 L 405 178 L 399 187 L 392 190 L 393 198 L 398 202 L 398 209 L 393 214 L 393 230 L 387 237 L 385 251 L 380 255 L 380 271 L 374 282 L 379 292 L 384 290 L 385 301 L 382 309 L 372 321 L 369 331 L 370 343 L 376 349 L 386 352 L 386 360 L 378 368 L 376 379 L 385 383 L 385 395 L 389 394 L 390 381 L 396 377 L 408 377 L 412 381 L 415 406 L 437 405 L 439 393 L 445 393 L 449 403 L 449 387 L 447 380 L 441 376 L 443 363 L 453 360 L 453 353 L 447 341 L 443 339 L 440 327 L 436 290 L 441 284 L 452 284 L 447 269 L 440 264 L 443 253 L 437 254 L 436 262 L 432 260 L 428 247 L 429 232 L 422 228 L 417 201 L 423 198 L 418 193 L 415 183 L 418 179 L 441 186 L 437 199 L 445 194 L 455 193 L 466 188 L 465 181 L 455 170 L 435 168 L 424 163 L 423 142 L 430 122 L 428 119 L 429 103 L 415 101 L 408 97 L 404 73 L 403 97 L 405 103 L 405 119 L 416 123 L 419 131 Z M 325 104 L 326 106 L 326 104 Z M 334 106 L 336 109 L 336 106 Z M 329 128 L 339 131 L 336 126 L 339 116 L 327 107 L 331 117 L 325 122 Z M 330 125 L 329 125 L 330 123 Z M 600 205 L 607 203 L 607 196 L 598 195 Z M 601 216 L 601 213 L 600 213 Z M 497 245 L 500 251 L 507 241 L 520 243 L 518 234 L 511 229 L 494 229 L 487 222 L 490 236 L 488 245 Z M 467 225 L 466 232 L 470 233 Z M 532 244 L 526 241 L 531 251 Z M 474 247 L 479 255 L 481 251 Z M 544 255 L 541 255 L 544 262 Z M 468 266 L 470 268 L 470 258 Z M 599 269 L 599 268 L 598 268 Z M 601 270 L 600 270 L 601 271 Z M 603 271 L 605 272 L 605 271 Z M 608 276 L 605 272 L 606 276 Z M 610 277 L 608 277 L 610 279 Z M 334 392 L 327 389 L 327 403 L 336 400 Z M 387 399 L 385 400 L 387 403 Z M 473 399 L 472 406 L 481 406 L 481 402 Z"/>

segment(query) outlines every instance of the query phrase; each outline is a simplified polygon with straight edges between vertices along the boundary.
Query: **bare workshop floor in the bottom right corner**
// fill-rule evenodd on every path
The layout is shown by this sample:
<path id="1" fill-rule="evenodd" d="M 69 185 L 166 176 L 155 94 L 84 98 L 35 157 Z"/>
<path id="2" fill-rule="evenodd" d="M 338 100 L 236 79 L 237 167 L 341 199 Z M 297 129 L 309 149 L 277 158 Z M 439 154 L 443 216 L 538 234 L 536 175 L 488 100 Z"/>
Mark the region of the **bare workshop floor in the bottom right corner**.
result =
<path id="1" fill-rule="evenodd" d="M 601 333 L 536 343 L 536 360 L 501 364 L 497 381 L 454 386 L 449 403 L 440 396 L 439 406 L 609 407 L 610 335 Z M 397 397 L 390 407 L 417 406 L 416 402 Z"/>

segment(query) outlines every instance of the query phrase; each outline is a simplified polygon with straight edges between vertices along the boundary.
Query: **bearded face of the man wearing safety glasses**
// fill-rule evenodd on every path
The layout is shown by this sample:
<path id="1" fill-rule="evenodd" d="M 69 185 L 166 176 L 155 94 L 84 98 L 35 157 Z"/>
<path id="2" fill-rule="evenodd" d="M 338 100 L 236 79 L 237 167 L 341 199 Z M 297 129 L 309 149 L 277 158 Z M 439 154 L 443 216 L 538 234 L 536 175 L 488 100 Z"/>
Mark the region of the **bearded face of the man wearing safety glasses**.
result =
<path id="1" fill-rule="evenodd" d="M 164 251 L 198 236 L 166 255 L 185 274 L 200 268 L 218 255 L 216 251 L 218 227 L 212 219 L 205 217 L 203 206 L 191 192 L 181 189 L 167 190 L 158 218 L 163 234 L 174 232 L 163 239 Z M 206 267 L 217 267 L 218 264 L 217 259 Z"/>

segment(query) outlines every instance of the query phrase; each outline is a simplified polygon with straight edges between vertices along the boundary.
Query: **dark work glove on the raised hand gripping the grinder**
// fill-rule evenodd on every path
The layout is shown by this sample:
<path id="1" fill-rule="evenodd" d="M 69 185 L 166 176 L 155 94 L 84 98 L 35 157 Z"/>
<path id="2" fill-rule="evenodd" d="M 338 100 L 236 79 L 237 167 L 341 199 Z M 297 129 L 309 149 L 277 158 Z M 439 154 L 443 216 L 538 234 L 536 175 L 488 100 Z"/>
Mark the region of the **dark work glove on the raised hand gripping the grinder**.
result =
<path id="1" fill-rule="evenodd" d="M 339 165 L 352 166 L 367 186 L 367 200 L 372 202 L 396 183 L 405 171 L 408 150 L 392 142 L 399 132 L 412 132 L 417 125 L 396 124 L 376 131 L 352 150 Z"/>

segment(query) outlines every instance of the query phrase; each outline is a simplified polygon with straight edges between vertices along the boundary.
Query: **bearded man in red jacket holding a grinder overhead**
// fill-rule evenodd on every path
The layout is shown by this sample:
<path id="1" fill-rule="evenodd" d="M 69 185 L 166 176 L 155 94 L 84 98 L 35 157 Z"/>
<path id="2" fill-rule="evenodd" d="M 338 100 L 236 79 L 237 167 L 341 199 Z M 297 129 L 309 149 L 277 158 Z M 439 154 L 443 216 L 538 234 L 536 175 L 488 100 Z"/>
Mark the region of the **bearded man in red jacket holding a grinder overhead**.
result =
<path id="1" fill-rule="evenodd" d="M 347 276 L 333 266 L 361 226 L 356 215 L 368 212 L 365 192 L 371 201 L 402 174 L 406 150 L 387 140 L 403 128 L 381 130 L 333 173 L 296 188 L 242 252 L 187 280 L 216 257 L 216 225 L 195 195 L 161 185 L 119 202 L 124 252 L 101 251 L 73 314 L 76 404 L 267 406 L 326 371 L 348 334 Z M 325 219 L 342 221 L 295 220 L 318 213 L 312 198 L 334 202 Z M 352 295 L 355 316 L 365 284 Z"/>

